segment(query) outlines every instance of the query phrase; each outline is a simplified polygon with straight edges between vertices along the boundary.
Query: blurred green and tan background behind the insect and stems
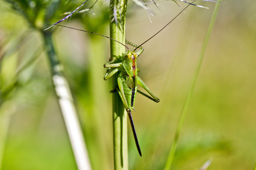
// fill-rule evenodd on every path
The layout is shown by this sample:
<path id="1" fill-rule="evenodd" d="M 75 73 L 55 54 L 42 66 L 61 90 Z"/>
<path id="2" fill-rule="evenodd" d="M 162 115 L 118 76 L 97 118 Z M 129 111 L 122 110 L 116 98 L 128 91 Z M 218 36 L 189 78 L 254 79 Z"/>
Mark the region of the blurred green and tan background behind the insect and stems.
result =
<path id="1" fill-rule="evenodd" d="M 33 1 L 29 2 L 31 8 L 39 6 L 37 13 L 26 11 L 30 20 L 14 10 L 11 3 L 0 1 L 0 167 L 3 170 L 76 169 L 52 87 L 42 33 L 38 31 L 45 21 L 44 8 L 54 1 L 38 1 L 34 5 Z M 61 3 L 49 20 L 51 23 L 79 5 L 77 1 Z M 133 119 L 142 157 L 129 125 L 130 169 L 163 169 L 166 163 L 215 5 L 197 4 L 210 9 L 190 6 L 186 14 L 182 13 L 143 45 L 145 51 L 137 60 L 139 77 L 161 102 L 156 104 L 137 95 Z M 156 16 L 150 17 L 153 22 L 150 23 L 147 11 L 132 2 L 128 5 L 126 39 L 134 44 L 143 43 L 180 12 L 174 2 L 159 2 L 161 11 L 155 10 Z M 19 3 L 13 6 L 20 8 Z M 196 169 L 209 158 L 213 159 L 209 170 L 254 169 L 255 6 L 253 0 L 222 1 L 172 169 Z M 93 13 L 90 11 L 84 17 L 74 14 L 62 24 L 108 36 L 107 4 L 98 2 Z M 75 100 L 92 167 L 113 169 L 111 88 L 110 81 L 103 80 L 109 40 L 66 28 L 52 30 L 54 47 Z"/>

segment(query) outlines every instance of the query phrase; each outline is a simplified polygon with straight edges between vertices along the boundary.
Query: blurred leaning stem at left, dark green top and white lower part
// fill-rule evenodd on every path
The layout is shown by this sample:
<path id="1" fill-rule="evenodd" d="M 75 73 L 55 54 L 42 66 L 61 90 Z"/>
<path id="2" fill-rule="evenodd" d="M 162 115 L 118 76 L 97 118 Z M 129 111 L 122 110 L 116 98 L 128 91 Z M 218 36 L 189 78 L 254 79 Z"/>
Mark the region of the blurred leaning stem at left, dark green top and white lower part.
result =
<path id="1" fill-rule="evenodd" d="M 78 121 L 74 100 L 70 92 L 68 81 L 62 74 L 62 65 L 55 54 L 52 34 L 49 31 L 43 33 L 46 52 L 51 63 L 53 86 L 59 100 L 61 113 L 66 124 L 77 168 L 78 170 L 90 170 L 90 160 L 87 154 L 82 129 Z"/>

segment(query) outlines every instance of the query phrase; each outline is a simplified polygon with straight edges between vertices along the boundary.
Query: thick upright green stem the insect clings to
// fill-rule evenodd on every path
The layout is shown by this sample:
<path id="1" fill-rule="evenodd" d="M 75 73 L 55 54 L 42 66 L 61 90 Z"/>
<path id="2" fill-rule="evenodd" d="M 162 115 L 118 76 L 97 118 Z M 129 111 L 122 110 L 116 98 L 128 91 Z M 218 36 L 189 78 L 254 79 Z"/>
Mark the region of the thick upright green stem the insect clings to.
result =
<path id="1" fill-rule="evenodd" d="M 118 3 L 117 3 L 118 2 Z M 127 0 L 110 1 L 110 37 L 125 44 L 125 15 Z M 118 13 L 121 10 L 122 18 L 118 18 L 118 24 L 113 21 L 114 6 Z M 112 22 L 111 22 L 112 21 Z M 117 58 L 125 53 L 125 47 L 113 40 L 110 40 L 110 55 Z M 111 78 L 112 89 L 117 87 L 118 73 Z M 117 92 L 113 92 L 113 142 L 114 142 L 114 167 L 115 169 L 128 169 L 128 147 L 127 147 L 127 114 L 124 109 L 121 98 Z"/>

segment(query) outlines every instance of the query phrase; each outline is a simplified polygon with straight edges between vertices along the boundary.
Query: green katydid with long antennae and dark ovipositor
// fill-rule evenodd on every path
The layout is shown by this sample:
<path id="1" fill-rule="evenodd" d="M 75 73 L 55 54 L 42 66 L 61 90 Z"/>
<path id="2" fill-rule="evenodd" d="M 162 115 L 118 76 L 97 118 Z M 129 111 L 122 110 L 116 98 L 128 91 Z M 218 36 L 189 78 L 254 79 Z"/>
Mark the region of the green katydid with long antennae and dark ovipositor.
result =
<path id="1" fill-rule="evenodd" d="M 195 1 L 193 1 L 191 4 L 193 4 Z M 189 5 L 191 5 L 191 4 L 189 4 Z M 159 30 L 157 33 L 155 33 L 154 36 L 150 37 L 148 40 L 146 40 L 141 45 L 135 45 L 133 43 L 130 43 L 129 41 L 125 41 L 126 44 L 129 44 L 129 45 L 135 47 L 135 49 L 133 51 L 131 51 L 127 46 L 125 46 L 124 44 L 122 44 L 121 42 L 119 42 L 119 41 L 117 41 L 113 38 L 103 36 L 103 35 L 100 35 L 98 33 L 86 31 L 86 30 L 81 30 L 81 29 L 67 27 L 67 26 L 64 26 L 64 25 L 55 24 L 55 25 L 58 25 L 58 26 L 61 26 L 61 27 L 66 27 L 66 28 L 75 29 L 75 30 L 79 30 L 79 31 L 89 32 L 89 33 L 93 33 L 95 35 L 99 35 L 99 36 L 109 38 L 111 40 L 116 41 L 119 44 L 122 44 L 123 46 L 125 46 L 128 49 L 128 52 L 126 52 L 122 56 L 118 57 L 118 62 L 117 62 L 116 58 L 115 59 L 110 58 L 109 62 L 104 64 L 104 67 L 107 68 L 107 72 L 105 74 L 104 80 L 109 79 L 115 73 L 120 71 L 120 73 L 118 75 L 118 78 L 117 78 L 118 87 L 116 87 L 111 92 L 116 92 L 117 91 L 119 96 L 121 97 L 121 99 L 123 101 L 126 112 L 128 113 L 129 118 L 130 118 L 130 123 L 131 123 L 131 126 L 132 126 L 132 132 L 133 132 L 134 140 L 135 140 L 135 143 L 136 143 L 136 146 L 137 146 L 137 149 L 139 151 L 140 156 L 141 156 L 141 150 L 140 150 L 140 146 L 139 146 L 138 138 L 137 138 L 137 135 L 136 135 L 136 132 L 135 132 L 135 128 L 134 128 L 134 124 L 133 124 L 133 120 L 132 120 L 132 114 L 131 114 L 132 109 L 134 109 L 134 100 L 135 100 L 135 97 L 136 97 L 136 93 L 138 91 L 140 94 L 142 94 L 143 96 L 148 97 L 149 99 L 155 101 L 156 103 L 158 103 L 160 100 L 148 89 L 146 84 L 137 76 L 137 74 L 139 72 L 139 69 L 137 68 L 137 63 L 136 63 L 137 62 L 137 57 L 139 57 L 141 55 L 141 53 L 143 52 L 143 50 L 144 50 L 142 48 L 142 45 L 145 44 L 147 41 L 149 41 L 151 38 L 155 37 L 165 27 L 167 27 L 167 25 L 169 25 L 175 18 L 177 18 L 177 16 L 179 16 L 183 11 L 185 11 L 186 8 L 189 5 L 187 5 L 178 15 L 176 15 L 161 30 Z M 140 50 L 136 53 L 135 50 L 138 49 L 138 48 Z M 141 92 L 140 90 L 137 90 L 137 84 L 139 84 L 139 86 L 141 86 L 143 89 L 145 89 L 150 96 L 146 95 L 145 93 Z"/>

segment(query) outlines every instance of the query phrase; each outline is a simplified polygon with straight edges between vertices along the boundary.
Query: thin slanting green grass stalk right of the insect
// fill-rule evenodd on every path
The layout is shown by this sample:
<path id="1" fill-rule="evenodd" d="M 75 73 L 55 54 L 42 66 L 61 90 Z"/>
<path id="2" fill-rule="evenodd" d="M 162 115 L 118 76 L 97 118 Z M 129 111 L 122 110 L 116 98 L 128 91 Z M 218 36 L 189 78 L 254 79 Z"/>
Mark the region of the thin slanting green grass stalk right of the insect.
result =
<path id="1" fill-rule="evenodd" d="M 221 2 L 221 0 L 219 0 L 218 2 Z M 183 122 L 184 122 L 185 117 L 186 117 L 186 113 L 187 113 L 187 109 L 188 109 L 188 106 L 189 106 L 189 103 L 190 103 L 190 99 L 191 99 L 193 91 L 195 89 L 195 84 L 196 84 L 196 80 L 197 80 L 197 77 L 198 77 L 198 74 L 199 74 L 199 70 L 200 70 L 202 62 L 203 62 L 205 49 L 207 47 L 207 44 L 208 44 L 208 41 L 209 41 L 209 38 L 210 38 L 210 35 L 211 35 L 211 32 L 212 32 L 213 25 L 214 25 L 214 22 L 215 22 L 216 17 L 217 17 L 217 13 L 219 11 L 219 7 L 220 7 L 220 3 L 216 3 L 213 14 L 212 14 L 212 18 L 211 18 L 211 21 L 210 21 L 210 24 L 209 24 L 209 27 L 208 27 L 208 30 L 206 32 L 206 36 L 204 38 L 204 43 L 203 43 L 203 46 L 202 46 L 202 49 L 201 49 L 201 53 L 199 54 L 199 59 L 198 59 L 198 63 L 197 63 L 197 66 L 196 66 L 196 72 L 195 72 L 194 78 L 191 82 L 185 104 L 182 108 L 180 120 L 179 120 L 177 129 L 176 129 L 176 132 L 175 132 L 174 140 L 172 142 L 171 150 L 169 152 L 169 156 L 167 158 L 167 162 L 166 162 L 164 170 L 168 170 L 172 166 L 173 158 L 174 158 L 174 155 L 175 155 L 175 150 L 176 150 L 176 147 L 177 147 L 177 142 L 178 142 L 178 139 L 179 139 L 179 136 L 180 136 L 180 131 L 181 131 Z"/>

